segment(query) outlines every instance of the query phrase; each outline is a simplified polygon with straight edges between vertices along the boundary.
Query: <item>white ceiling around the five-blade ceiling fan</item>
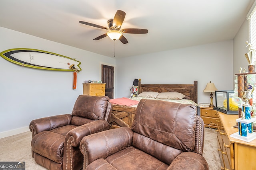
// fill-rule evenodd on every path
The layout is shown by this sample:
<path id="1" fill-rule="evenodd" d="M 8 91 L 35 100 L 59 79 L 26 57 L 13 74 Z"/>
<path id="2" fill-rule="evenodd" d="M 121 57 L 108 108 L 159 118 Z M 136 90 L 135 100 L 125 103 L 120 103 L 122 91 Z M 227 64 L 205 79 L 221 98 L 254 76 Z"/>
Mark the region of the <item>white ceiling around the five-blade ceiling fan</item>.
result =
<path id="1" fill-rule="evenodd" d="M 116 58 L 130 57 L 233 39 L 254 0 L 0 0 L 0 27 Z M 128 44 L 109 37 L 117 10 L 126 12 L 122 28 L 148 29 L 124 36 Z M 17 47 L 18 48 L 18 47 Z M 29 48 L 29 47 L 28 47 Z"/>

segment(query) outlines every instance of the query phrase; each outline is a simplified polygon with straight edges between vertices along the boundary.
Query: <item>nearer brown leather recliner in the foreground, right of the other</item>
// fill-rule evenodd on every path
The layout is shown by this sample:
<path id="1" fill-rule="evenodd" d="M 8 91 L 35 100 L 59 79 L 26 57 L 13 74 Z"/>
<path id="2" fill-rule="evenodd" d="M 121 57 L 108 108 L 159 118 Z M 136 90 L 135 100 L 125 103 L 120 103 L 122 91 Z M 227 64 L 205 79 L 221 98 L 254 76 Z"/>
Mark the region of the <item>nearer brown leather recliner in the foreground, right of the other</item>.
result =
<path id="1" fill-rule="evenodd" d="M 132 128 L 95 133 L 80 143 L 84 170 L 208 170 L 203 147 L 196 107 L 144 99 Z"/>

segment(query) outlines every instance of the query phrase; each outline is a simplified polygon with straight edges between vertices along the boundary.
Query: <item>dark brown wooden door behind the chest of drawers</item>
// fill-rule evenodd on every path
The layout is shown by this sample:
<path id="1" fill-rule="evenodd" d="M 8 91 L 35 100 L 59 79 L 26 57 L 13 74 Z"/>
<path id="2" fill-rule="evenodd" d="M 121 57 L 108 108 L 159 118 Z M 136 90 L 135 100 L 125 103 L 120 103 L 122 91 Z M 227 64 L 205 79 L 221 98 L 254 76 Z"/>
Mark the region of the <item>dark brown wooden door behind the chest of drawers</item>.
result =
<path id="1" fill-rule="evenodd" d="M 102 82 L 106 83 L 106 96 L 110 99 L 114 96 L 114 67 L 101 65 L 101 80 Z"/>

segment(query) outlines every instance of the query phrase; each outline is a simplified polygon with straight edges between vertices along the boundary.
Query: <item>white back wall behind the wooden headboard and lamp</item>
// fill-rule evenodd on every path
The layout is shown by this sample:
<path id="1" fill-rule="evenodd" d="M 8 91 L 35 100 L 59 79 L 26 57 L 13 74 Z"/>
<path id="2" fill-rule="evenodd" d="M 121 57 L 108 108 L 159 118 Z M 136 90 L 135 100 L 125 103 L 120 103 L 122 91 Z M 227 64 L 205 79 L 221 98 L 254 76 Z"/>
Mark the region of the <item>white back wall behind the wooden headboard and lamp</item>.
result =
<path id="1" fill-rule="evenodd" d="M 233 41 L 223 41 L 116 60 L 117 98 L 129 97 L 134 78 L 142 84 L 193 84 L 198 102 L 209 102 L 209 81 L 218 90 L 233 90 Z M 215 98 L 214 98 L 215 103 Z"/>

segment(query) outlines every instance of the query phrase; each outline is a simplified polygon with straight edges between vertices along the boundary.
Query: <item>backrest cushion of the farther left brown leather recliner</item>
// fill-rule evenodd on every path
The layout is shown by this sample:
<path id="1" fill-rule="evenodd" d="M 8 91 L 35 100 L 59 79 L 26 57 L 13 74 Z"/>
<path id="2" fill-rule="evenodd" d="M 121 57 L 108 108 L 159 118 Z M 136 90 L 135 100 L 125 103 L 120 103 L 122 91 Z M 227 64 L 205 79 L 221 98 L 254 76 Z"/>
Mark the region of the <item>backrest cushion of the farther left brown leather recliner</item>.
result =
<path id="1" fill-rule="evenodd" d="M 74 104 L 72 116 L 85 117 L 92 120 L 104 119 L 108 102 L 108 96 L 80 95 Z"/>

